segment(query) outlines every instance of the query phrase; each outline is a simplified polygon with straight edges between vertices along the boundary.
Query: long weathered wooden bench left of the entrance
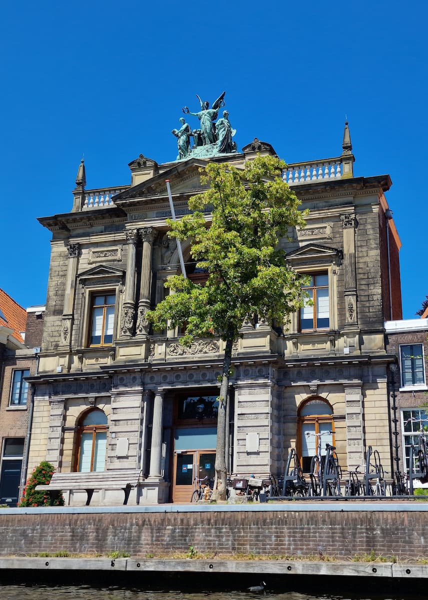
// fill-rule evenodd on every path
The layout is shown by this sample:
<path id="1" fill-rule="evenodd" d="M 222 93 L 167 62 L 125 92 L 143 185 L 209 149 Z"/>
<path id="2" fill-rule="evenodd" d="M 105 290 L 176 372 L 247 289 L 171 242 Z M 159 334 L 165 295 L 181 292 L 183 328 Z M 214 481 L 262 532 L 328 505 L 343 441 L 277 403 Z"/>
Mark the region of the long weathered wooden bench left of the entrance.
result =
<path id="1" fill-rule="evenodd" d="M 53 473 L 48 485 L 37 485 L 36 491 L 85 490 L 88 494 L 86 506 L 95 490 L 124 491 L 124 505 L 127 504 L 131 489 L 136 487 L 143 477 L 141 471 L 122 469 L 118 471 L 95 471 L 91 473 Z"/>

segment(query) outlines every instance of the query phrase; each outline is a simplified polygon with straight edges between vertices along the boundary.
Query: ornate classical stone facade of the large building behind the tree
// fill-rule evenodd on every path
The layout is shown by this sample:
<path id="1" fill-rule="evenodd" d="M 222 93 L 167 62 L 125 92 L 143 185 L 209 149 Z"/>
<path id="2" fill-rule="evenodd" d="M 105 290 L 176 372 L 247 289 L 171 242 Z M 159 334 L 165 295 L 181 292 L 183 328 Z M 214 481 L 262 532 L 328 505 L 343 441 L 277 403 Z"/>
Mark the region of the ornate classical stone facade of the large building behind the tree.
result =
<path id="1" fill-rule="evenodd" d="M 310 275 L 314 304 L 288 328 L 256 319 L 243 325 L 231 379 L 230 473 L 280 475 L 292 447 L 307 471 L 321 432 L 343 468 L 361 464 L 368 445 L 390 465 L 384 320 L 402 316 L 400 241 L 385 198 L 391 180 L 354 176 L 347 124 L 342 148 L 339 157 L 284 172 L 310 213 L 306 229 L 290 230 L 282 246 L 291 265 Z M 255 139 L 212 160 L 240 167 L 257 154 L 276 152 Z M 52 232 L 52 255 L 32 378 L 30 467 L 47 459 L 62 472 L 142 470 L 130 500 L 139 503 L 188 501 L 194 476 L 212 474 L 223 343 L 185 348 L 179 329 L 153 334 L 145 319 L 164 297 L 164 281 L 180 272 L 166 236 L 165 180 L 184 215 L 188 198 L 203 190 L 205 164 L 140 155 L 129 165 L 130 185 L 86 190 L 82 161 L 71 212 L 40 219 Z M 183 253 L 197 280 L 186 244 Z M 92 503 L 116 501 L 109 492 L 95 495 Z M 67 498 L 83 500 L 73 491 Z"/>

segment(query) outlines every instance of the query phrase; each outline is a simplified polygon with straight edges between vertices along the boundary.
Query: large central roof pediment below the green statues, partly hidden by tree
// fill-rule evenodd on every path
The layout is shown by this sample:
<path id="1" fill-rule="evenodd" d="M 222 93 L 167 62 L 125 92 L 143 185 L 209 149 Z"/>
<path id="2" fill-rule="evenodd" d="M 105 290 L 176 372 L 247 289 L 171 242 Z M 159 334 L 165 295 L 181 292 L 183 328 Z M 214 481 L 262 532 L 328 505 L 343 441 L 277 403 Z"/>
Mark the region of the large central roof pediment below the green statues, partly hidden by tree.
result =
<path id="1" fill-rule="evenodd" d="M 116 205 L 120 206 L 124 200 L 144 200 L 145 197 L 166 196 L 166 179 L 169 179 L 172 193 L 194 193 L 195 190 L 202 189 L 199 169 L 205 166 L 206 161 L 197 158 L 190 158 L 181 163 L 173 163 L 170 167 L 158 173 L 158 175 L 146 179 L 146 181 L 142 181 L 137 185 L 133 185 L 133 187 L 113 196 L 112 200 Z"/>

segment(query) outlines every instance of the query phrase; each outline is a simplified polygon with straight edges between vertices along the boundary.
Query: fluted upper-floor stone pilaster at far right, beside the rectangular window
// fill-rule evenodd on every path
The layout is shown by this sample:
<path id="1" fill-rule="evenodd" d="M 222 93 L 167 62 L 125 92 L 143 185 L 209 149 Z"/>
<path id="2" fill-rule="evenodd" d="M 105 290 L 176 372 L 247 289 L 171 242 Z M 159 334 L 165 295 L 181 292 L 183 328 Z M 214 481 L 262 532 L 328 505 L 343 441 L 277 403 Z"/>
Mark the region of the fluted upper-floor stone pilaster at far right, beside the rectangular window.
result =
<path id="1" fill-rule="evenodd" d="M 345 274 L 345 327 L 358 327 L 357 314 L 357 273 L 355 266 L 355 227 L 354 214 L 340 215 L 343 226 L 343 266 Z"/>

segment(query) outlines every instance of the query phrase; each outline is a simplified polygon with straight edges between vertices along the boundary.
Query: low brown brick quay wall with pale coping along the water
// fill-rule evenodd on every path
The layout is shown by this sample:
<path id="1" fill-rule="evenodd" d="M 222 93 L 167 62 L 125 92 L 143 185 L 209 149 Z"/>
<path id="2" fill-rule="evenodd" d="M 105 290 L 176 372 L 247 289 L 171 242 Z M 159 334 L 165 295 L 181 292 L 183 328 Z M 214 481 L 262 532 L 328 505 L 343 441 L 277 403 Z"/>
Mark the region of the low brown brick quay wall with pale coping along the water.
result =
<path id="1" fill-rule="evenodd" d="M 428 503 L 26 508 L 0 511 L 0 556 L 428 556 Z"/>

